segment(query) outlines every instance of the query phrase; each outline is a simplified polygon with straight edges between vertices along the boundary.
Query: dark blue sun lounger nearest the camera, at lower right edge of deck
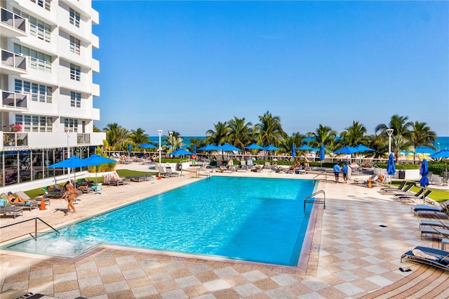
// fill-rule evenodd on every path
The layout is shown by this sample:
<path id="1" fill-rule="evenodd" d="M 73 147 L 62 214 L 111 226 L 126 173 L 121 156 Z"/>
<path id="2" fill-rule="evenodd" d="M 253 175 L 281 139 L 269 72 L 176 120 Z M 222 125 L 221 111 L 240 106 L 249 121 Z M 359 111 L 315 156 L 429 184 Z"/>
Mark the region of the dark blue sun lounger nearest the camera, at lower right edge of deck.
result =
<path id="1" fill-rule="evenodd" d="M 417 246 L 401 255 L 401 263 L 407 258 L 415 263 L 430 265 L 449 271 L 449 252 L 429 247 Z"/>

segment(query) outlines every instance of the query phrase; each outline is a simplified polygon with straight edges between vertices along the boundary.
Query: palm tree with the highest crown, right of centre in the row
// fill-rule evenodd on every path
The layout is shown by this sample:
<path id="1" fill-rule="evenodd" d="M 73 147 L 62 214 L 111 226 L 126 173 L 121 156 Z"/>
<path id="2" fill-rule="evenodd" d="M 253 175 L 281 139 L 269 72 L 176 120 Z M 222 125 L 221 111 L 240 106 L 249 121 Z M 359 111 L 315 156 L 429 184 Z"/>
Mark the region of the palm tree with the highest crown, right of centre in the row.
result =
<path id="1" fill-rule="evenodd" d="M 281 146 L 281 140 L 288 137 L 281 126 L 281 118 L 265 112 L 259 117 L 259 124 L 254 126 L 257 143 L 261 145 Z"/>

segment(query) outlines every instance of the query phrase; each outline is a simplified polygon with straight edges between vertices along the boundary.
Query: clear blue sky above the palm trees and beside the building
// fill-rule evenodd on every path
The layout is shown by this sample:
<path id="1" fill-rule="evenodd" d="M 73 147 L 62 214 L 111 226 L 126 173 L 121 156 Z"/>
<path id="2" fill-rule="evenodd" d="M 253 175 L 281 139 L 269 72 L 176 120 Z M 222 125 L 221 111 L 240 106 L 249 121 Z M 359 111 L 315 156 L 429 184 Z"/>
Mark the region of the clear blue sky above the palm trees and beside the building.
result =
<path id="1" fill-rule="evenodd" d="M 267 110 L 284 130 L 368 133 L 393 114 L 449 136 L 448 1 L 93 1 L 104 128 L 205 135 Z"/>

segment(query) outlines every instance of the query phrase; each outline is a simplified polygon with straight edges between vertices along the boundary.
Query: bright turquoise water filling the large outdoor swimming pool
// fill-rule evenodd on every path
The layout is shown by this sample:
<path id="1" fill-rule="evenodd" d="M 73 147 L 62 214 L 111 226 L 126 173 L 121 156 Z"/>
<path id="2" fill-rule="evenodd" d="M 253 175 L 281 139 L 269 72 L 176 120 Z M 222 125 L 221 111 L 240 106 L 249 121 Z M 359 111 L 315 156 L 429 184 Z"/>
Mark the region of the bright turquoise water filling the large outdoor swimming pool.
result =
<path id="1" fill-rule="evenodd" d="M 213 177 L 8 248 L 69 256 L 103 242 L 293 266 L 313 189 L 311 180 Z"/>

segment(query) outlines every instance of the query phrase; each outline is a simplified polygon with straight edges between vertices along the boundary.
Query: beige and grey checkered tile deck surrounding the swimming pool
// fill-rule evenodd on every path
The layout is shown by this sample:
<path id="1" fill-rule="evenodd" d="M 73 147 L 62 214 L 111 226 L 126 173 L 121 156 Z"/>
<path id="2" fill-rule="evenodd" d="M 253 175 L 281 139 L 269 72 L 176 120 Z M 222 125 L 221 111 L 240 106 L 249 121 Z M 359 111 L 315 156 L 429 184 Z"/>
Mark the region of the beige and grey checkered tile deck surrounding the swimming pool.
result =
<path id="1" fill-rule="evenodd" d="M 232 175 L 314 177 L 249 172 Z M 184 176 L 104 187 L 100 195 L 83 195 L 76 213 L 66 217 L 58 210 L 64 203 L 54 199 L 46 211 L 25 211 L 25 216 L 16 220 L 1 218 L 0 225 L 40 217 L 58 227 L 192 180 L 196 179 Z M 110 246 L 76 260 L 1 251 L 1 290 L 15 288 L 55 298 L 360 298 L 382 289 L 390 291 L 388 286 L 408 284 L 402 280 L 408 275 L 415 275 L 415 283 L 429 276 L 426 267 L 400 262 L 401 254 L 415 246 L 438 248 L 437 241 L 420 239 L 419 220 L 410 213 L 409 205 L 376 189 L 335 184 L 330 178 L 321 180 L 317 190 L 326 192 L 326 209 L 320 206 L 316 213 L 315 230 L 307 237 L 309 255 L 302 255 L 304 266 L 199 260 Z M 28 224 L 1 230 L 1 241 L 19 232 L 26 234 L 33 227 Z M 413 271 L 401 272 L 399 267 Z M 438 286 L 434 286 L 449 288 L 449 274 L 441 273 Z M 420 298 L 417 292 L 408 298 Z"/>

